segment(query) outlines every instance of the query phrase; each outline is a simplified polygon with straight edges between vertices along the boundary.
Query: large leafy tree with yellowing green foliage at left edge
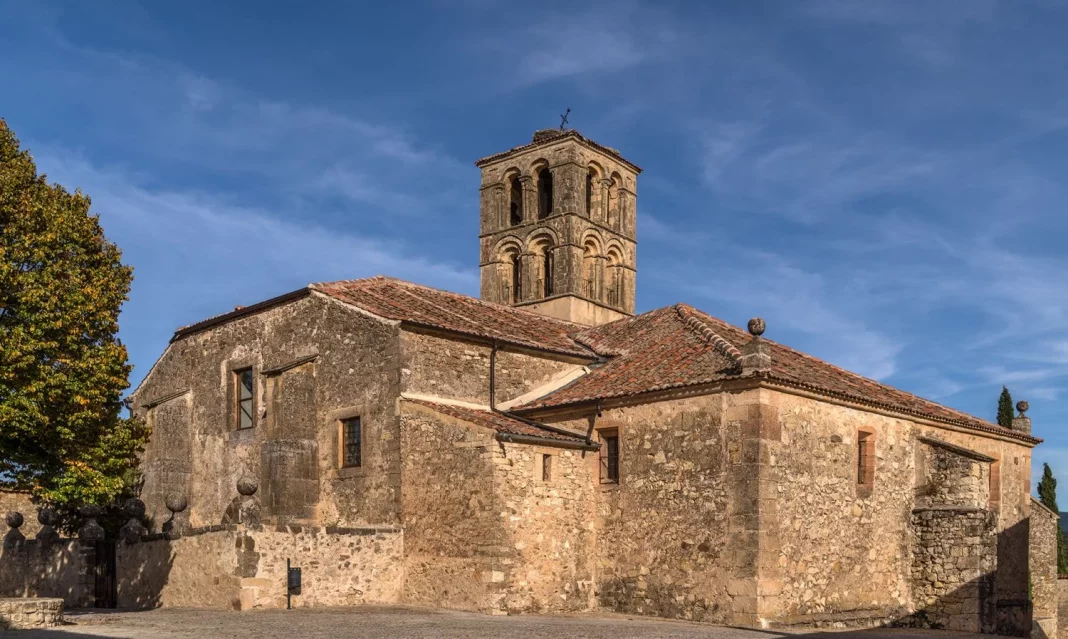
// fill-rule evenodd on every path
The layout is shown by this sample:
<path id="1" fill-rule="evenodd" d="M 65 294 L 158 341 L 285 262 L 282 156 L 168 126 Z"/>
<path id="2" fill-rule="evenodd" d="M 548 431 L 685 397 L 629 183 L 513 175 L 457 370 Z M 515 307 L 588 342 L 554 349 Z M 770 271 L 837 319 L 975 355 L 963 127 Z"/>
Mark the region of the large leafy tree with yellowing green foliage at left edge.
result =
<path id="1" fill-rule="evenodd" d="M 147 438 L 120 416 L 132 269 L 89 209 L 0 120 L 0 482 L 61 512 L 119 497 Z"/>

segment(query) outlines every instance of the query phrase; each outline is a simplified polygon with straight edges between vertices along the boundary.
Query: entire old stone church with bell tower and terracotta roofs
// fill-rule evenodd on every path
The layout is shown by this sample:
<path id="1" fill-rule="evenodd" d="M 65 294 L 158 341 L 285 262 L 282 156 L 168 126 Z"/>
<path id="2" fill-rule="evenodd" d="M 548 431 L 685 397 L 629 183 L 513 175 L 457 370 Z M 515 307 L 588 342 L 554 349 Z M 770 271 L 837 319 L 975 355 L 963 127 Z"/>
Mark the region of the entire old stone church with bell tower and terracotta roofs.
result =
<path id="1" fill-rule="evenodd" d="M 635 315 L 641 169 L 575 130 L 476 167 L 481 299 L 315 283 L 174 333 L 130 399 L 168 547 L 120 550 L 168 574 L 121 566 L 124 601 L 284 606 L 289 560 L 297 606 L 1016 635 L 1049 615 L 1022 410 L 1001 427 L 759 318 Z"/>

